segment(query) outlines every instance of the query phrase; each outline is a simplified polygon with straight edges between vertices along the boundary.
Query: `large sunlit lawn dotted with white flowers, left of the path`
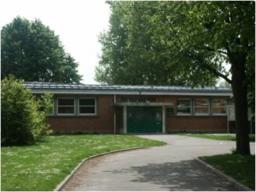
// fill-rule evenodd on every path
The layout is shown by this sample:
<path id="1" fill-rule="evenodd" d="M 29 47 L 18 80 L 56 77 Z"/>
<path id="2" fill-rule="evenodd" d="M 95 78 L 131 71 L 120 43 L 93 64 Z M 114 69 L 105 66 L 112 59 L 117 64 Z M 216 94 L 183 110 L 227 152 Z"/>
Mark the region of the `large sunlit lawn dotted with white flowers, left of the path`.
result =
<path id="1" fill-rule="evenodd" d="M 132 135 L 60 135 L 36 145 L 1 147 L 1 191 L 53 191 L 83 158 L 160 145 Z"/>

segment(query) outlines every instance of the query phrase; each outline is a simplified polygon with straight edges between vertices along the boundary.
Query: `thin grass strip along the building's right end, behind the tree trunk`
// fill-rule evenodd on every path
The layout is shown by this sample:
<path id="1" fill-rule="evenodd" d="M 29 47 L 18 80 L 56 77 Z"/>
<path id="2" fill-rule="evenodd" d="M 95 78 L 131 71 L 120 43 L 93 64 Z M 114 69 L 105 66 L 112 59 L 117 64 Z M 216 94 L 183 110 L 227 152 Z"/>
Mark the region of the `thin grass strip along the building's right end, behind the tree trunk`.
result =
<path id="1" fill-rule="evenodd" d="M 227 134 L 227 133 L 179 133 L 179 135 L 190 136 L 190 137 L 202 137 L 206 139 L 215 139 L 215 140 L 226 140 L 226 141 L 236 141 L 236 134 Z M 249 140 L 255 142 L 255 134 L 249 134 Z"/>

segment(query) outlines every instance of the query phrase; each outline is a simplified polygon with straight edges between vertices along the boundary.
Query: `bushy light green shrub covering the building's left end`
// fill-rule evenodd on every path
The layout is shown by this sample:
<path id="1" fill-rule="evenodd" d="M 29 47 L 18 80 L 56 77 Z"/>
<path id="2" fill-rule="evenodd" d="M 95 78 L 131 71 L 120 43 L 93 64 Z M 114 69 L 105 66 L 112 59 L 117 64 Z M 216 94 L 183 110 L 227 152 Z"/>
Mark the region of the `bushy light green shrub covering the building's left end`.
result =
<path id="1" fill-rule="evenodd" d="M 50 132 L 52 95 L 36 97 L 23 84 L 14 76 L 1 80 L 1 145 L 32 144 Z"/>

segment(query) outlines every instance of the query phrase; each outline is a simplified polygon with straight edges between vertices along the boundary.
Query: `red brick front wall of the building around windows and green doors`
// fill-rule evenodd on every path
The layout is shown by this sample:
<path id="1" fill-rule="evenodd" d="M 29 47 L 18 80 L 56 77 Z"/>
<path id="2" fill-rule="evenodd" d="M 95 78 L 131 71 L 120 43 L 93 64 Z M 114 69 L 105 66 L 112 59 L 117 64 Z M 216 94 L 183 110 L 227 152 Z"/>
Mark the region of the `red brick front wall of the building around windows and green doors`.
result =
<path id="1" fill-rule="evenodd" d="M 48 123 L 55 132 L 113 133 L 113 95 L 55 95 L 55 97 L 95 97 L 98 101 L 97 116 L 49 116 Z M 226 98 L 203 96 L 168 96 L 168 95 L 117 95 L 121 97 L 154 97 L 156 102 L 173 103 L 174 116 L 166 116 L 168 132 L 226 132 L 226 116 L 177 116 L 176 99 L 182 98 Z M 165 108 L 167 108 L 166 106 Z M 123 107 L 116 109 L 116 131 L 123 132 Z"/>

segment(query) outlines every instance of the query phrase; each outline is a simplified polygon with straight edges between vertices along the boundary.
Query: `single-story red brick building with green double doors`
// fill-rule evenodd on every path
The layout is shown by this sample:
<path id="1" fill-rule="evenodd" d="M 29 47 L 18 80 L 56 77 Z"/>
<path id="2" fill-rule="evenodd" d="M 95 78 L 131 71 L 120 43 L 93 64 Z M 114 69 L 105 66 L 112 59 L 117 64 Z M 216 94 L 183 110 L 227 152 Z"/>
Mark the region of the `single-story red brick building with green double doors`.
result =
<path id="1" fill-rule="evenodd" d="M 34 94 L 53 93 L 54 132 L 227 132 L 228 88 L 83 85 L 26 82 Z"/>

